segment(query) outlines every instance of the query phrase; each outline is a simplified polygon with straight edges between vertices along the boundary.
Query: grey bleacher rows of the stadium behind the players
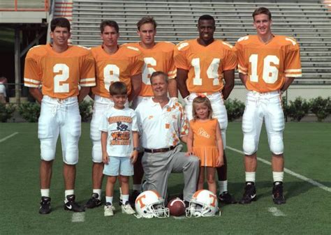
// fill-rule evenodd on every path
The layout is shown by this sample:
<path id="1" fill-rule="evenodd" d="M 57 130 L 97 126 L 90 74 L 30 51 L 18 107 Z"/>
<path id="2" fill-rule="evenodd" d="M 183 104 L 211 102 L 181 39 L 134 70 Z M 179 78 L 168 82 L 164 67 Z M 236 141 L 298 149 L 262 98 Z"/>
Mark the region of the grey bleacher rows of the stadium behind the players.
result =
<path id="1" fill-rule="evenodd" d="M 120 43 L 137 41 L 135 23 L 152 15 L 158 22 L 157 40 L 172 43 L 196 38 L 196 21 L 203 14 L 216 20 L 216 38 L 234 44 L 241 36 L 255 33 L 251 13 L 259 6 L 272 12 L 276 34 L 293 36 L 300 43 L 303 82 L 331 83 L 331 21 L 329 9 L 319 2 L 242 1 L 73 1 L 73 43 L 92 47 L 99 45 L 98 24 L 103 19 L 116 20 L 120 26 Z"/>

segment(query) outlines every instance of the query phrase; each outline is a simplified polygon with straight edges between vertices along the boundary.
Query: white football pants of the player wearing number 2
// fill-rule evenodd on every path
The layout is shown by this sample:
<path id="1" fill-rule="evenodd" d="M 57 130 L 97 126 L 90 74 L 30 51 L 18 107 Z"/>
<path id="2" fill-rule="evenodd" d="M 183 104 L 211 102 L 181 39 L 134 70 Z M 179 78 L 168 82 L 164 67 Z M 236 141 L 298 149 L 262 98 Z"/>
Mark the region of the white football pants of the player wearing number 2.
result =
<path id="1" fill-rule="evenodd" d="M 43 96 L 41 116 L 38 119 L 41 159 L 54 160 L 57 139 L 60 134 L 64 162 L 68 165 L 77 164 L 80 126 L 81 117 L 77 97 L 59 100 Z"/>

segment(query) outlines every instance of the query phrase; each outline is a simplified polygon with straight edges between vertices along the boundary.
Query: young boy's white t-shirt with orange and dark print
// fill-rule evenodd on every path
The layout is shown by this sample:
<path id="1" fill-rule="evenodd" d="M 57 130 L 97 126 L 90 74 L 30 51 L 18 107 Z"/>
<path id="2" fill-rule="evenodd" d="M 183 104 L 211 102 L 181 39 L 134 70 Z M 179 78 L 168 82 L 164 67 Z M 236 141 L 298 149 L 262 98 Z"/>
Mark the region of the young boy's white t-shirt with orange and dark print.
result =
<path id="1" fill-rule="evenodd" d="M 110 108 L 103 114 L 99 130 L 108 132 L 108 156 L 129 157 L 133 151 L 133 131 L 138 131 L 137 117 L 133 109 Z"/>

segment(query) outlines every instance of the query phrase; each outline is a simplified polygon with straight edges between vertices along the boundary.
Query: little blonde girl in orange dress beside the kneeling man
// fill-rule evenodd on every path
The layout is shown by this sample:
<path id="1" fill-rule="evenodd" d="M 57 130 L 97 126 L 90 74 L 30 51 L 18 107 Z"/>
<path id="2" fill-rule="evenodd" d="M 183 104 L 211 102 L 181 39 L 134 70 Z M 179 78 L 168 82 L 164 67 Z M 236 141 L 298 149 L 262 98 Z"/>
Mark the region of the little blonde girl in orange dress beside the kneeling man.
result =
<path id="1" fill-rule="evenodd" d="M 212 105 L 205 96 L 193 100 L 193 120 L 190 121 L 186 156 L 200 158 L 198 190 L 203 189 L 207 169 L 208 190 L 216 194 L 215 167 L 223 165 L 223 142 L 217 119 L 212 119 Z"/>

